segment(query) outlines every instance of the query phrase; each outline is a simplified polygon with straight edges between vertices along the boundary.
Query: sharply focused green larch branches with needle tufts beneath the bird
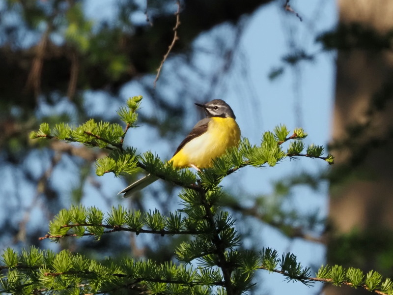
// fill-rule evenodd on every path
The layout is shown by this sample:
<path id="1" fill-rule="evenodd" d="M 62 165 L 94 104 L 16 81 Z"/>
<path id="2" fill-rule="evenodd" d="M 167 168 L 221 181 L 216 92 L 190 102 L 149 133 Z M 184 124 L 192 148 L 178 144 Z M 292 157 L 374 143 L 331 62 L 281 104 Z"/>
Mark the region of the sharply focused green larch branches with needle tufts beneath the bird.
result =
<path id="1" fill-rule="evenodd" d="M 141 99 L 141 96 L 130 98 L 127 106 L 117 112 L 124 127 L 90 119 L 77 127 L 58 123 L 52 134 L 49 124 L 42 123 L 31 138 L 79 142 L 91 148 L 106 149 L 108 155 L 96 161 L 97 175 L 111 172 L 118 176 L 143 169 L 183 187 L 179 194 L 181 208 L 165 216 L 158 209 L 141 212 L 118 206 L 104 214 L 96 207 L 71 206 L 58 212 L 49 225 L 48 235 L 43 238 L 59 241 L 66 236 L 94 236 L 99 240 L 114 232 L 191 236 L 173 251 L 178 263 L 158 264 L 129 258 L 97 261 L 67 251 L 54 254 L 34 247 L 18 255 L 7 249 L 2 255 L 6 274 L 0 292 L 28 294 L 42 290 L 43 293 L 100 294 L 134 289 L 149 294 L 234 295 L 249 290 L 255 284 L 255 271 L 265 269 L 280 273 L 285 280 L 307 285 L 322 280 L 336 286 L 346 284 L 392 294 L 392 281 L 382 282 L 382 276 L 375 271 L 364 275 L 356 268 L 322 266 L 317 278 L 313 278 L 309 267 L 302 266 L 292 253 L 280 257 L 270 248 L 262 249 L 259 254 L 239 250 L 242 237 L 236 231 L 236 221 L 220 208 L 225 196 L 220 185 L 222 179 L 245 166 L 275 166 L 287 157 L 319 158 L 333 163 L 332 155 L 323 156 L 324 147 L 309 145 L 306 148 L 302 140 L 307 134 L 303 129 L 296 128 L 290 135 L 285 125 L 279 125 L 273 132 L 264 132 L 259 145 L 252 145 L 243 138 L 239 148 L 227 150 L 213 161 L 210 169 L 197 173 L 187 169 L 178 171 L 150 151 L 138 155 L 135 148 L 123 147 L 127 131 L 136 127 Z M 277 186 L 282 194 L 287 193 L 285 184 Z M 266 204 L 261 207 L 272 208 Z M 189 266 L 190 263 L 193 266 Z"/>

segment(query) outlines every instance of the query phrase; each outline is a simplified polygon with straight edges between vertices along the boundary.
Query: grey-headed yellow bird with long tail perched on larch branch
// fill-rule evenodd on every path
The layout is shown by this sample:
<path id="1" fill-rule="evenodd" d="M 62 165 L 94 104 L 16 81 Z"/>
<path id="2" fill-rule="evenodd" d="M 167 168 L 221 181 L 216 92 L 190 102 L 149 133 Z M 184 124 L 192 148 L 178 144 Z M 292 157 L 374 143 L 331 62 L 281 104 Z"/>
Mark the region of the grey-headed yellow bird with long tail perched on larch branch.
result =
<path id="1" fill-rule="evenodd" d="M 213 160 L 223 155 L 227 148 L 239 145 L 240 128 L 235 121 L 235 114 L 224 100 L 214 99 L 196 105 L 204 109 L 206 118 L 197 122 L 168 161 L 172 162 L 175 168 L 209 168 Z M 127 186 L 119 194 L 125 193 L 124 198 L 130 197 L 157 179 L 154 175 L 148 174 Z"/>

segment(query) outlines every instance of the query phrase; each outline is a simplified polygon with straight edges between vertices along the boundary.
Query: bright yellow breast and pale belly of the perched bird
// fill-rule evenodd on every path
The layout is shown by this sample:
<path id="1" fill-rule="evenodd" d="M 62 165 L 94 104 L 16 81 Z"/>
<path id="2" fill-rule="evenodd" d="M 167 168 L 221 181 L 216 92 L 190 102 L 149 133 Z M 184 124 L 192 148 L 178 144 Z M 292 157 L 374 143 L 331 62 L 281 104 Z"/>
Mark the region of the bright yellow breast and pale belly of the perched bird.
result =
<path id="1" fill-rule="evenodd" d="M 207 131 L 188 142 L 170 161 L 177 168 L 191 164 L 200 169 L 209 168 L 212 160 L 223 155 L 227 148 L 239 145 L 240 136 L 240 128 L 233 118 L 212 117 Z"/>

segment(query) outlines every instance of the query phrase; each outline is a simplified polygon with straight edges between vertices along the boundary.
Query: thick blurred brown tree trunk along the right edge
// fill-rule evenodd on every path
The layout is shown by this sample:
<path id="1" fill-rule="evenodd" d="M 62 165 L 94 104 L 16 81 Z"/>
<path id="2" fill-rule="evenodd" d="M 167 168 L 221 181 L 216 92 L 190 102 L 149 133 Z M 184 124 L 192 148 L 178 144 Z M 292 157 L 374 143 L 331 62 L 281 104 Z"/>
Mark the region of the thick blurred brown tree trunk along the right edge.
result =
<path id="1" fill-rule="evenodd" d="M 338 46 L 328 264 L 391 276 L 393 1 L 338 0 L 338 9 L 340 26 L 357 38 L 344 40 L 351 48 Z M 325 293 L 362 294 L 335 287 Z"/>

